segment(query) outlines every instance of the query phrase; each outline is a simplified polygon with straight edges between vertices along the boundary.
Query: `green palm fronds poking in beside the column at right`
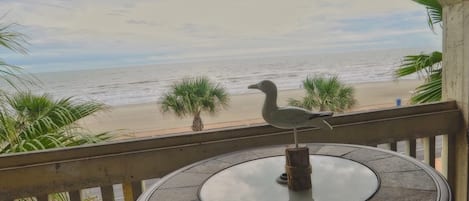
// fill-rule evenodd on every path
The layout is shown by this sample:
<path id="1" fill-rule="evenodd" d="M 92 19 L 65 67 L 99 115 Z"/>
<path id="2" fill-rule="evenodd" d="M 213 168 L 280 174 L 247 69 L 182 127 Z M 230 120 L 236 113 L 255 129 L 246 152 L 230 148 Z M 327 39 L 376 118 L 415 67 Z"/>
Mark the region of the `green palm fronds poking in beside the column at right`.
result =
<path id="1" fill-rule="evenodd" d="M 443 9 L 438 0 L 413 0 L 424 5 L 428 14 L 428 25 L 434 30 L 434 25 L 442 23 Z M 403 64 L 395 71 L 396 77 L 410 74 L 421 74 L 425 83 L 415 89 L 411 102 L 426 103 L 441 100 L 442 87 L 442 53 L 435 51 L 431 54 L 409 55 L 404 57 Z"/>

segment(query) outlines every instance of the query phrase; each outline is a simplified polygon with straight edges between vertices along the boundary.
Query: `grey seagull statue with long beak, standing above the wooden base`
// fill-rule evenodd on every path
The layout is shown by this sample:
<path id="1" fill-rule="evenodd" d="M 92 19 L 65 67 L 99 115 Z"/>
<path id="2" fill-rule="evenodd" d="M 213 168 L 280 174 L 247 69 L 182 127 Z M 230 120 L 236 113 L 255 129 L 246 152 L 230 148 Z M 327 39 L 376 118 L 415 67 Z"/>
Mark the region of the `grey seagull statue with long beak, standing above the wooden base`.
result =
<path id="1" fill-rule="evenodd" d="M 299 107 L 278 107 L 277 87 L 270 80 L 263 80 L 257 84 L 249 85 L 249 89 L 259 89 L 265 93 L 262 117 L 270 125 L 293 129 L 295 146 L 298 148 L 297 128 L 315 127 L 324 130 L 332 130 L 332 126 L 325 120 L 332 116 L 332 112 L 311 112 Z"/>

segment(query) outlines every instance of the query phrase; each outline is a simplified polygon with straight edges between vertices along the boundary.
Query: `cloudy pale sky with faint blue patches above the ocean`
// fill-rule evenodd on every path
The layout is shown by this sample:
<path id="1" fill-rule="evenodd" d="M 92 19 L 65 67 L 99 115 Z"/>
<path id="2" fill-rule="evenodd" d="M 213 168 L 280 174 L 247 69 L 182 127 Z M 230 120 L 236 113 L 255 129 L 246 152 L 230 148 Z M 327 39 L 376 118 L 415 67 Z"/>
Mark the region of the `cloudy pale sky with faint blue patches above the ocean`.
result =
<path id="1" fill-rule="evenodd" d="M 223 58 L 441 49 L 411 0 L 0 0 L 0 24 L 24 33 L 29 71 Z"/>

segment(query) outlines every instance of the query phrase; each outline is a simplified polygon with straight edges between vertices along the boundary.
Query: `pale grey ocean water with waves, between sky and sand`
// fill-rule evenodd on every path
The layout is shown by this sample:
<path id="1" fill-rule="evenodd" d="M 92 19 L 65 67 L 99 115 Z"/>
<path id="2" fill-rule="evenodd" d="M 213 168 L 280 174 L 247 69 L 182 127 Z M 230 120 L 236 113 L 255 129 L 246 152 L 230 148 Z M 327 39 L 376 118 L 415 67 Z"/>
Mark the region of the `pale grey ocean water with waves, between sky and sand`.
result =
<path id="1" fill-rule="evenodd" d="M 391 81 L 402 57 L 415 53 L 419 52 L 380 50 L 48 72 L 35 74 L 42 83 L 33 91 L 119 106 L 156 103 L 174 82 L 200 75 L 220 83 L 230 94 L 253 93 L 247 86 L 265 79 L 274 81 L 279 90 L 298 89 L 302 80 L 315 74 L 338 75 L 348 84 Z"/>

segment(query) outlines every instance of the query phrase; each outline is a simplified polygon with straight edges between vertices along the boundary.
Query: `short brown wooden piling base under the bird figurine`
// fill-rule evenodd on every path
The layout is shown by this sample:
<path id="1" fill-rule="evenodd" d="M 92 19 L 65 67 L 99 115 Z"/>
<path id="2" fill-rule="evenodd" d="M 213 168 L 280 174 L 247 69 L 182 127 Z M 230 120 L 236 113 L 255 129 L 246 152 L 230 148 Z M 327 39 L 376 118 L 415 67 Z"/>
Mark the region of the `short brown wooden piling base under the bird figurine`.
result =
<path id="1" fill-rule="evenodd" d="M 293 191 L 311 189 L 311 164 L 308 147 L 288 148 L 285 172 L 288 177 L 288 188 Z"/>

